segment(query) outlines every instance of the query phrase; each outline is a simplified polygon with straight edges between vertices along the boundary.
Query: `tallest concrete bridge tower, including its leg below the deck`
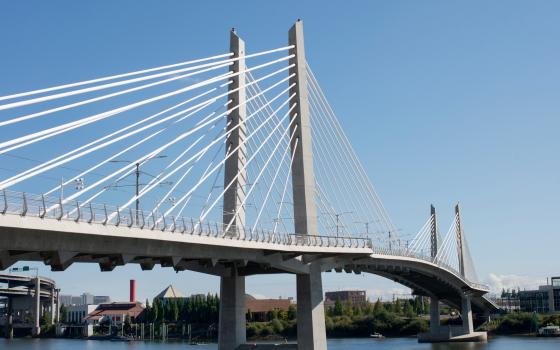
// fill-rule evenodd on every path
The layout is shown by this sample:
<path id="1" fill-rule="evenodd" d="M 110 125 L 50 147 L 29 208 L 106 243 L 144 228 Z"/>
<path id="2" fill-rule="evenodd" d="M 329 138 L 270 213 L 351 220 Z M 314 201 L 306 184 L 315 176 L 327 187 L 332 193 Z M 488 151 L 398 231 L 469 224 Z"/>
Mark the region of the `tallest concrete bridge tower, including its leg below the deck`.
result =
<path id="1" fill-rule="evenodd" d="M 296 104 L 290 118 L 295 129 L 291 149 L 294 151 L 292 166 L 292 190 L 294 198 L 295 232 L 300 235 L 317 235 L 317 209 L 315 207 L 315 176 L 313 174 L 313 149 L 311 122 L 307 98 L 307 71 L 303 40 L 303 22 L 298 20 L 288 33 L 288 41 L 294 47 L 290 59 L 294 67 L 290 74 L 290 94 L 296 96 L 290 107 Z M 297 147 L 296 145 L 297 140 Z M 297 283 L 297 333 L 299 350 L 326 350 L 325 310 L 320 264 L 312 264 L 309 274 L 296 277 Z"/>

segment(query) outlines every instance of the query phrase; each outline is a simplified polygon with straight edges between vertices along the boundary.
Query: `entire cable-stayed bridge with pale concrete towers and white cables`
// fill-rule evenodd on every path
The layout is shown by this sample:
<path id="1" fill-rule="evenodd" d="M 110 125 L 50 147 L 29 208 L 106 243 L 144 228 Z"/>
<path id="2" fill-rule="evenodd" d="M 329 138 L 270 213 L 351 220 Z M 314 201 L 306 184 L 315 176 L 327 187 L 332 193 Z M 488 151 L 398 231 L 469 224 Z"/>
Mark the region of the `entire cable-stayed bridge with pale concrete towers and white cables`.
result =
<path id="1" fill-rule="evenodd" d="M 245 276 L 297 276 L 298 349 L 326 349 L 321 272 L 373 273 L 431 298 L 421 340 L 483 339 L 459 207 L 411 240 L 383 207 L 305 59 L 232 31 L 211 57 L 0 97 L 0 269 L 136 263 L 221 278 L 219 348 L 245 344 Z M 439 325 L 439 301 L 463 326 Z M 292 345 L 295 347 L 295 345 Z"/>

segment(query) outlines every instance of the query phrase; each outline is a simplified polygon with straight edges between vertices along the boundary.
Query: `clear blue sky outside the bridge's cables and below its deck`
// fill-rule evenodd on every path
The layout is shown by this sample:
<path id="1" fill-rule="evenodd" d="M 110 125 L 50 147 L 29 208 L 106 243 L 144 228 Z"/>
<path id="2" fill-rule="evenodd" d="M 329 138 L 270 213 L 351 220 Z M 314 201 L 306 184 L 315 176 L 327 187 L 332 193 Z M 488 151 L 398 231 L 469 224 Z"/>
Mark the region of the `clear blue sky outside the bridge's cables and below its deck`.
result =
<path id="1" fill-rule="evenodd" d="M 4 1 L 0 95 L 224 52 L 282 46 L 305 22 L 307 58 L 399 228 L 429 204 L 442 228 L 460 201 L 471 251 L 495 285 L 560 274 L 560 3 L 557 1 Z M 140 297 L 167 284 L 216 291 L 171 269 L 74 265 L 64 292 Z M 493 274 L 494 277 L 490 277 Z M 87 278 L 84 278 L 87 276 Z M 248 292 L 295 294 L 293 276 L 251 277 Z M 400 288 L 325 276 L 325 289 Z"/>

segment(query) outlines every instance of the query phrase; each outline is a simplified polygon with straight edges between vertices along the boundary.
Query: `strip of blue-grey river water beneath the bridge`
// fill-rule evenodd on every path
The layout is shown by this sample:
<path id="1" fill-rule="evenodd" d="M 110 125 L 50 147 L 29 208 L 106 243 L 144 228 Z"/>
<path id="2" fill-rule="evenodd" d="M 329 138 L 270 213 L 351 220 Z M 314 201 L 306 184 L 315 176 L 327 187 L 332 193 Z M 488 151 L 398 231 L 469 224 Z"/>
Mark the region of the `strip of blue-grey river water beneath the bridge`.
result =
<path id="1" fill-rule="evenodd" d="M 0 339 L 9 350 L 216 350 L 216 344 L 192 346 L 179 342 L 111 342 L 72 339 Z M 419 344 L 416 338 L 329 339 L 329 350 L 559 350 L 560 338 L 493 337 L 487 343 Z"/>

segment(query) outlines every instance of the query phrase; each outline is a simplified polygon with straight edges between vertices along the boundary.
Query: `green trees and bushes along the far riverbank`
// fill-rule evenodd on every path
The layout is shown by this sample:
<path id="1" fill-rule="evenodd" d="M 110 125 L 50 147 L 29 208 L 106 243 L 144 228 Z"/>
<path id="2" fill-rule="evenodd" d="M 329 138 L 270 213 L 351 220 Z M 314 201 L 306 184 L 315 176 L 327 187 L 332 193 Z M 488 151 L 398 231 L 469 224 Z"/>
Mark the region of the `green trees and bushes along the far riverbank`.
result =
<path id="1" fill-rule="evenodd" d="M 217 339 L 219 298 L 217 295 L 197 296 L 187 302 L 146 302 L 142 320 L 137 323 L 125 320 L 123 327 L 100 324 L 94 328 L 95 335 L 138 336 L 144 327 L 145 339 L 186 340 L 209 342 Z M 414 337 L 429 331 L 429 301 L 427 298 L 397 299 L 393 302 L 350 303 L 334 302 L 325 310 L 325 326 L 328 338 L 369 337 L 381 333 L 386 337 Z M 61 321 L 64 322 L 62 313 Z M 461 324 L 457 311 L 442 307 L 442 325 Z M 515 312 L 498 315 L 489 322 L 475 323 L 475 328 L 488 331 L 489 335 L 535 334 L 539 327 L 559 325 L 560 314 L 536 314 Z M 149 338 L 149 330 L 153 336 Z M 165 330 L 165 331 L 164 331 Z M 55 327 L 44 325 L 42 337 L 54 337 Z M 71 336 L 71 335 L 69 335 Z M 165 337 L 165 338 L 164 338 Z M 288 310 L 270 310 L 265 315 L 247 312 L 247 340 L 293 340 L 297 337 L 297 312 L 295 305 Z"/>

